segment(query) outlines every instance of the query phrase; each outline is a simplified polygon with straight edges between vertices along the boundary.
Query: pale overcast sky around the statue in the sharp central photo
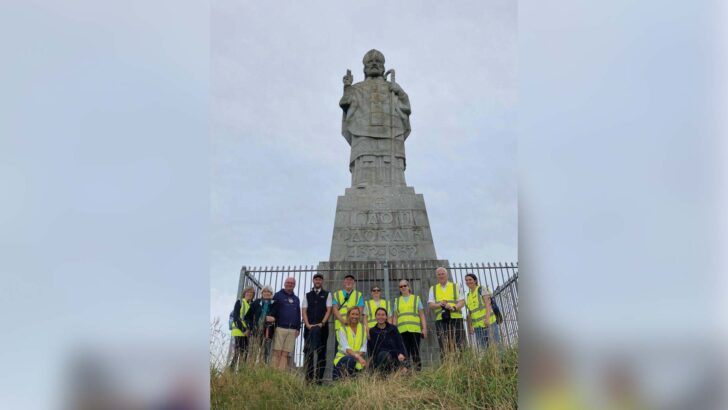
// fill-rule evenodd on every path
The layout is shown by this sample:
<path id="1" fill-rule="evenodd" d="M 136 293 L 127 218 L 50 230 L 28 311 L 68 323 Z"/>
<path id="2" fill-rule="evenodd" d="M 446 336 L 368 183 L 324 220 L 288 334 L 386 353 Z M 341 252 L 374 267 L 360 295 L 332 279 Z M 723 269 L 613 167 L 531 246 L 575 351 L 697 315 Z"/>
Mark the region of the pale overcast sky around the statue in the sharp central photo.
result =
<path id="1" fill-rule="evenodd" d="M 361 81 L 372 48 L 410 97 L 405 177 L 438 258 L 516 261 L 516 17 L 513 1 L 214 1 L 211 317 L 232 308 L 242 265 L 328 259 L 350 186 L 341 77 Z"/>

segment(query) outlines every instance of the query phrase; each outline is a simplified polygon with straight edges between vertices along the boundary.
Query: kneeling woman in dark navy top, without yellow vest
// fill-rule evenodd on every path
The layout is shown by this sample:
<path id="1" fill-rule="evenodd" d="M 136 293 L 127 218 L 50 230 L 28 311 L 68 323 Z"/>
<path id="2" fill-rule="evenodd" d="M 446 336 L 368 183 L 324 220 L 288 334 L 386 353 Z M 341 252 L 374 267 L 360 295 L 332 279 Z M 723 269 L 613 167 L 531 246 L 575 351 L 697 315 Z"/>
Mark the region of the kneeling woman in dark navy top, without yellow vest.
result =
<path id="1" fill-rule="evenodd" d="M 389 373 L 404 365 L 405 348 L 397 326 L 387 323 L 387 310 L 377 309 L 377 324 L 369 329 L 367 349 L 374 370 Z"/>

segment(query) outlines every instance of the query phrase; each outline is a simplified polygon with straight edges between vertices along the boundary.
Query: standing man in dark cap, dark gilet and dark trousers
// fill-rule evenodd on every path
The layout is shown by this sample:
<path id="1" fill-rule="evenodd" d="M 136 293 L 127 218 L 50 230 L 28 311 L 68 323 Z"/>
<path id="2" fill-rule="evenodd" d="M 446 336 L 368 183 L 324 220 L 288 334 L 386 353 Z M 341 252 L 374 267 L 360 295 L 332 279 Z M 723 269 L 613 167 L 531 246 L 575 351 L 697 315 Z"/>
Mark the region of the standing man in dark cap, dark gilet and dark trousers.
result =
<path id="1" fill-rule="evenodd" d="M 305 345 L 303 367 L 306 381 L 321 384 L 326 370 L 326 342 L 329 340 L 329 316 L 331 315 L 331 292 L 324 290 L 324 275 L 313 275 L 313 288 L 303 298 L 303 339 Z M 314 355 L 316 366 L 314 368 Z"/>

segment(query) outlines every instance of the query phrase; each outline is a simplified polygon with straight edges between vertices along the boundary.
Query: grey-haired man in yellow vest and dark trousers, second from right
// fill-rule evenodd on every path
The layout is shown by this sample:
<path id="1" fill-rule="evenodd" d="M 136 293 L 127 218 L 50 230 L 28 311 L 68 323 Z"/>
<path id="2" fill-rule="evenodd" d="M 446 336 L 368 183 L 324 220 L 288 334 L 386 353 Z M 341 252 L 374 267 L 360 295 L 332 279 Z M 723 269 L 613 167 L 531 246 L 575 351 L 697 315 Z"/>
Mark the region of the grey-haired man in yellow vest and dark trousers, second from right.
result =
<path id="1" fill-rule="evenodd" d="M 435 333 L 440 345 L 440 359 L 445 352 L 460 350 L 463 347 L 465 328 L 462 309 L 465 306 L 460 287 L 447 280 L 447 269 L 442 266 L 435 270 L 437 283 L 430 287 L 427 305 L 435 311 Z"/>

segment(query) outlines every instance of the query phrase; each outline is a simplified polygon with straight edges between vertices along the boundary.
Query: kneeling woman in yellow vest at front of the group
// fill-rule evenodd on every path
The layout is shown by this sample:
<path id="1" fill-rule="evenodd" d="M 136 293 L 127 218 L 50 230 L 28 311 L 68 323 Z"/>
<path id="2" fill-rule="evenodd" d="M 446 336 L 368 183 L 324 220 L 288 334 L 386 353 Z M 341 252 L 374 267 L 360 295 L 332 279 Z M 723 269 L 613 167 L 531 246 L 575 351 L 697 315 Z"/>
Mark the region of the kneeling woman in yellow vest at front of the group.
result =
<path id="1" fill-rule="evenodd" d="M 342 376 L 356 375 L 367 367 L 366 329 L 359 323 L 361 308 L 354 306 L 346 313 L 347 325 L 339 329 L 339 351 L 334 357 L 334 380 Z"/>

